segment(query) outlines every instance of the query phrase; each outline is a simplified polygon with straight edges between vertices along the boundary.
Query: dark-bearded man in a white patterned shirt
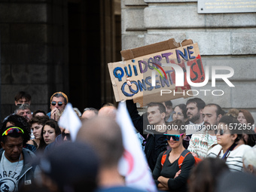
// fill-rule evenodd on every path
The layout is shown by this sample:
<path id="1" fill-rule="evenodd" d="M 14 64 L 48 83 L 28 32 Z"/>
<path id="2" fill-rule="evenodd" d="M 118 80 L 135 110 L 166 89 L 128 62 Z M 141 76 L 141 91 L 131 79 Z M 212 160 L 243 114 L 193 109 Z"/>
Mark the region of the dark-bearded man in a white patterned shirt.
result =
<path id="1" fill-rule="evenodd" d="M 199 134 L 193 134 L 190 139 L 190 145 L 187 150 L 194 156 L 203 159 L 207 152 L 217 145 L 215 130 L 218 127 L 218 121 L 224 115 L 224 111 L 217 104 L 210 103 L 203 108 L 203 130 Z"/>

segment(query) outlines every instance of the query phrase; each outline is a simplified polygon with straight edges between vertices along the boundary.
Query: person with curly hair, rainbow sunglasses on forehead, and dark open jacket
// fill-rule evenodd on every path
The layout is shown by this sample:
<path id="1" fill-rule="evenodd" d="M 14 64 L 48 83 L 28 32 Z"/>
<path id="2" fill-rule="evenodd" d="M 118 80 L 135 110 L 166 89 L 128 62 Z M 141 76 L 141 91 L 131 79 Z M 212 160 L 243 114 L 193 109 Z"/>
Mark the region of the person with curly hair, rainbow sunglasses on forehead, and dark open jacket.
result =
<path id="1" fill-rule="evenodd" d="M 0 184 L 1 191 L 18 191 L 20 187 L 34 183 L 32 160 L 35 154 L 23 146 L 28 142 L 30 132 L 19 126 L 2 127 L 0 130 Z"/>

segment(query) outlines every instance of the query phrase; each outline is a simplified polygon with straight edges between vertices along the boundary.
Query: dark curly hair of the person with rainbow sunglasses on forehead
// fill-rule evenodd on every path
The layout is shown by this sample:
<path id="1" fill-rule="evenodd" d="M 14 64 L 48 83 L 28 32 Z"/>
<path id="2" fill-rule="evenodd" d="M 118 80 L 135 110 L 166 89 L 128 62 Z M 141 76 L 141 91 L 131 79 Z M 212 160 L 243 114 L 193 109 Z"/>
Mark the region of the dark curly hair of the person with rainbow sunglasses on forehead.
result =
<path id="1" fill-rule="evenodd" d="M 2 134 L 5 132 L 5 130 L 10 128 L 6 126 L 8 122 L 14 124 L 14 126 L 20 127 L 20 129 L 23 130 L 24 133 L 21 136 L 23 138 L 23 145 L 26 145 L 26 142 L 30 140 L 30 125 L 25 117 L 17 114 L 11 114 L 6 120 L 3 121 L 0 129 L 0 141 L 3 143 L 6 142 L 7 136 L 2 136 Z"/>

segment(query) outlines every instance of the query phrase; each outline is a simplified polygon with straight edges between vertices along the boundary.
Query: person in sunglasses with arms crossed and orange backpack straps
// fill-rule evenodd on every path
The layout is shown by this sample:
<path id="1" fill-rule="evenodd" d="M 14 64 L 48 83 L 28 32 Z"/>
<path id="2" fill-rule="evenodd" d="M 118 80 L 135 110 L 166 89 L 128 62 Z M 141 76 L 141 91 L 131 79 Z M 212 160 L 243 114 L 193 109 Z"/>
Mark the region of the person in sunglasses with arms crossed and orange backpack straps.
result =
<path id="1" fill-rule="evenodd" d="M 167 123 L 167 125 L 169 126 L 167 126 L 167 133 L 164 136 L 166 136 L 171 149 L 162 152 L 157 158 L 153 178 L 159 190 L 187 191 L 187 178 L 195 160 L 193 155 L 182 144 L 186 136 L 185 124 L 182 120 L 174 120 Z M 166 159 L 162 160 L 165 154 Z M 187 155 L 184 156 L 180 169 L 178 160 L 181 154 Z"/>

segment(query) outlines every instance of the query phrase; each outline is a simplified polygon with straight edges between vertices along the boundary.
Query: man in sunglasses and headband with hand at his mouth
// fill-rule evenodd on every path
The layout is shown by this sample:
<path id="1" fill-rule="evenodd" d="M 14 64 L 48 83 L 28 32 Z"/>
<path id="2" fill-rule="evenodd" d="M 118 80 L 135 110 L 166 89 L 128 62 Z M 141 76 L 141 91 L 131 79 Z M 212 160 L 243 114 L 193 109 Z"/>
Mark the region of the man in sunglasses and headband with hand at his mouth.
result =
<path id="1" fill-rule="evenodd" d="M 65 93 L 56 92 L 50 97 L 50 112 L 47 113 L 47 116 L 53 120 L 58 121 L 59 117 L 62 115 L 66 105 L 68 104 L 69 99 Z"/>

